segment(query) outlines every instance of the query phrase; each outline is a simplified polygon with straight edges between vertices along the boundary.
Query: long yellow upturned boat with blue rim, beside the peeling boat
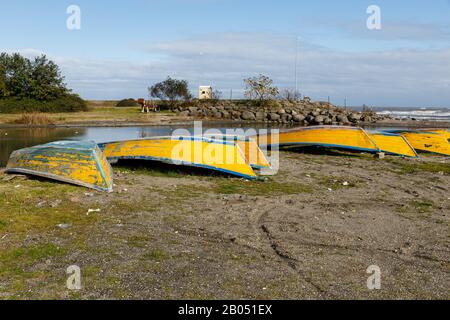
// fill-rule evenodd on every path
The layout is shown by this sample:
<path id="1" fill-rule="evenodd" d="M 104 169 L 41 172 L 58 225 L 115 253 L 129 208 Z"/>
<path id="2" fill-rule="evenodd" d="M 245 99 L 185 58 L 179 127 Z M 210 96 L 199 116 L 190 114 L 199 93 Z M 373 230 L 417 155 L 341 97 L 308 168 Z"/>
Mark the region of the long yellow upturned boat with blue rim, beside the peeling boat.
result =
<path id="1" fill-rule="evenodd" d="M 111 162 L 119 159 L 142 159 L 175 165 L 194 166 L 246 179 L 257 175 L 234 142 L 206 137 L 155 137 L 100 144 Z"/>

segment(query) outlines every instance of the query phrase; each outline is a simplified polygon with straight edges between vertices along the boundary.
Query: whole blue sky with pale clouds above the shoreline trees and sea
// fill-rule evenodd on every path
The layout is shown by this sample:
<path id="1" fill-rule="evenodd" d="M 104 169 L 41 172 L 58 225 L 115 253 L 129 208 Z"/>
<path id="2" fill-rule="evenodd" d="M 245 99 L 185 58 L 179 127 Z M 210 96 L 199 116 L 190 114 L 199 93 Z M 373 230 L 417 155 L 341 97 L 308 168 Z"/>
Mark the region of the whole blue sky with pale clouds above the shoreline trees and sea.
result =
<path id="1" fill-rule="evenodd" d="M 81 30 L 66 28 L 69 5 Z M 366 27 L 369 5 L 382 29 Z M 84 98 L 144 97 L 167 76 L 242 94 L 264 73 L 313 99 L 376 106 L 450 105 L 450 1 L 4 1 L 0 50 L 41 53 Z"/>

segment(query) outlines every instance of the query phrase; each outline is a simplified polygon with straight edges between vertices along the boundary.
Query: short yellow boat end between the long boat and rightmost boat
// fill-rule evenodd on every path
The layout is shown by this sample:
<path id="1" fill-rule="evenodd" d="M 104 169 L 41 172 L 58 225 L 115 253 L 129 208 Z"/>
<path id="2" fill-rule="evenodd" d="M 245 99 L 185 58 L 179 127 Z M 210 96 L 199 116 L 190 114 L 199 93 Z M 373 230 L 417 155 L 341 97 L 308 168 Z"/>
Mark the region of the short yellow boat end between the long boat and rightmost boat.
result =
<path id="1" fill-rule="evenodd" d="M 417 158 L 417 152 L 405 137 L 388 132 L 370 132 L 369 137 L 382 152 L 392 155 Z"/>

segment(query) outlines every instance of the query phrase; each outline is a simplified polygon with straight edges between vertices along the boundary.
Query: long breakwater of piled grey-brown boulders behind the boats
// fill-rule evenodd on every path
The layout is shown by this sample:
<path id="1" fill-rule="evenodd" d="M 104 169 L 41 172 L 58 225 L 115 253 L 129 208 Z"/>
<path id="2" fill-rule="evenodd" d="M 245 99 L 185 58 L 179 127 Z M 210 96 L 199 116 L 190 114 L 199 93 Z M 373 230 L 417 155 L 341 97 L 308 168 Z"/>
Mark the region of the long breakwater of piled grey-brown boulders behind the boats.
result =
<path id="1" fill-rule="evenodd" d="M 180 116 L 205 120 L 267 122 L 283 125 L 357 125 L 376 123 L 385 116 L 373 112 L 355 112 L 328 102 L 254 101 L 197 102 L 178 107 Z"/>

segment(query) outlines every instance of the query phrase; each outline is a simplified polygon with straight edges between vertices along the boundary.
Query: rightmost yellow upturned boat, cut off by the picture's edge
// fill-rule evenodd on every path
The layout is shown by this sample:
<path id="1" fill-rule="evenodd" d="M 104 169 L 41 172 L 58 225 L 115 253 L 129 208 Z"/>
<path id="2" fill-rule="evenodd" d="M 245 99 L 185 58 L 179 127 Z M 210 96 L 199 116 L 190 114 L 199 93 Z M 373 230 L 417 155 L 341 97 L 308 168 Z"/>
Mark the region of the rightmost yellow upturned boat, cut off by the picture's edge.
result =
<path id="1" fill-rule="evenodd" d="M 400 134 L 416 150 L 450 156 L 450 143 L 444 134 L 418 130 L 388 130 Z"/>

